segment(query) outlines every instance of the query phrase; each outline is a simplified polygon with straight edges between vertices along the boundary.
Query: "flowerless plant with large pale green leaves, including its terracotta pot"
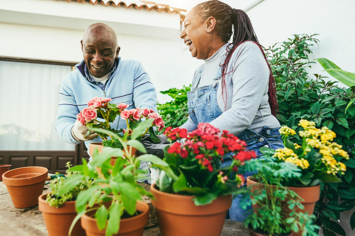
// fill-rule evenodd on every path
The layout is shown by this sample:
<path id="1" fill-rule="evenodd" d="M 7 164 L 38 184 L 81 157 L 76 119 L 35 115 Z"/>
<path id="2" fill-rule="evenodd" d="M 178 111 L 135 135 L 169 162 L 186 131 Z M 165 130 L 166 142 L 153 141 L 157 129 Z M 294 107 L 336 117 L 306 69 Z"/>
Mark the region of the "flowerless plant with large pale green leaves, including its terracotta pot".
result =
<path id="1" fill-rule="evenodd" d="M 128 132 L 123 137 L 105 130 L 122 145 L 119 148 L 104 147 L 99 154 L 98 149 L 93 153 L 93 162 L 90 166 L 74 166 L 69 171 L 81 171 L 77 179 L 68 181 L 64 187 L 77 185 L 82 179 L 94 179 L 93 185 L 81 191 L 77 196 L 77 217 L 73 220 L 71 228 L 81 217 L 81 225 L 87 235 L 142 235 L 144 225 L 148 222 L 149 206 L 142 202 L 142 196 L 152 196 L 137 180 L 147 173 L 138 169 L 140 161 L 161 160 L 152 155 L 136 157 L 132 149 L 136 148 L 145 153 L 141 142 L 135 138 L 143 130 L 151 126 L 153 120 L 140 123 L 131 133 L 132 138 L 127 140 Z M 96 129 L 93 129 L 96 132 Z M 114 165 L 110 164 L 111 156 L 117 159 Z M 97 171 L 97 168 L 99 171 Z"/>

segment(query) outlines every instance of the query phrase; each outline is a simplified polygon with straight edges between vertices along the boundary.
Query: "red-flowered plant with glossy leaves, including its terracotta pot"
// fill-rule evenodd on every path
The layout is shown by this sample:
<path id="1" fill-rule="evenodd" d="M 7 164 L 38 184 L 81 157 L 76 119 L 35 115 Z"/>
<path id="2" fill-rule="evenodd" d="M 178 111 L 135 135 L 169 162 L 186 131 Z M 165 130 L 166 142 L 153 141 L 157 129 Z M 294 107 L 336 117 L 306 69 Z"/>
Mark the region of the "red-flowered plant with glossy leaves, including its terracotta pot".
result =
<path id="1" fill-rule="evenodd" d="M 237 174 L 238 168 L 255 152 L 247 151 L 246 143 L 233 134 L 221 133 L 208 123 L 200 123 L 191 133 L 168 127 L 164 134 L 177 141 L 164 149 L 167 165 L 152 165 L 162 170 L 151 185 L 161 234 L 220 235 L 232 195 L 245 191 L 240 189 L 244 178 Z M 221 167 L 223 157 L 231 152 L 233 163 Z"/>

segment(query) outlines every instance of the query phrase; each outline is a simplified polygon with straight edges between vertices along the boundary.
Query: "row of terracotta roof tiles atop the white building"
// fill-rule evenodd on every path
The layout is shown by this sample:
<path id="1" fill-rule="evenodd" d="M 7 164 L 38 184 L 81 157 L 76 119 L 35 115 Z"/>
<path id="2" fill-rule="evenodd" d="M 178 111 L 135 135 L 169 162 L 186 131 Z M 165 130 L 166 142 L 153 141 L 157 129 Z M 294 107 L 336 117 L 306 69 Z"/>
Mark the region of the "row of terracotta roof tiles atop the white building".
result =
<path id="1" fill-rule="evenodd" d="M 158 11 L 158 12 L 168 12 L 168 13 L 178 13 L 180 15 L 180 23 L 182 23 L 182 21 L 184 21 L 185 19 L 185 15 L 182 14 L 182 12 L 186 12 L 185 9 L 180 9 L 180 8 L 176 8 L 176 7 L 171 7 L 169 5 L 166 4 L 157 4 L 155 2 L 150 2 L 150 1 L 130 1 L 130 0 L 126 0 L 126 1 L 120 1 L 120 0 L 65 0 L 67 2 L 71 2 L 71 1 L 77 1 L 77 2 L 89 2 L 93 5 L 97 4 L 98 2 L 100 2 L 102 5 L 105 6 L 123 6 L 126 8 L 135 8 L 137 10 L 148 10 L 148 11 Z"/>

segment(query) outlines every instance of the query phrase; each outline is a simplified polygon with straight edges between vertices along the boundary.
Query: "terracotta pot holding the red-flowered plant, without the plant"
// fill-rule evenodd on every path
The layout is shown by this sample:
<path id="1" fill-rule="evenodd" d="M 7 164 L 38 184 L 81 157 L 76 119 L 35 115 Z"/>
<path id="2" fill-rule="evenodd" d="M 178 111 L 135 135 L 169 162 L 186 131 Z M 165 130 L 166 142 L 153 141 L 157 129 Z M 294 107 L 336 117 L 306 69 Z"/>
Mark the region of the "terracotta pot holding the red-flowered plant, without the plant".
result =
<path id="1" fill-rule="evenodd" d="M 158 224 L 162 236 L 215 236 L 222 232 L 232 196 L 219 196 L 211 204 L 195 206 L 193 196 L 168 194 L 151 185 L 155 197 Z"/>

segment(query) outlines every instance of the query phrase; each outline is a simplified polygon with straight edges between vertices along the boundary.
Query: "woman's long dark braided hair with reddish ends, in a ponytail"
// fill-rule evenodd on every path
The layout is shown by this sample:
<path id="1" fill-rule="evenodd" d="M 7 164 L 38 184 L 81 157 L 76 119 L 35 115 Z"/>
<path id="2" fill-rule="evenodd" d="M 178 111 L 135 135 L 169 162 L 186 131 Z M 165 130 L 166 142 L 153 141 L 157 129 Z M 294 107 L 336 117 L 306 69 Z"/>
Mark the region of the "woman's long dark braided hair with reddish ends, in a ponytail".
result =
<path id="1" fill-rule="evenodd" d="M 229 49 L 227 47 L 227 54 L 224 63 L 222 64 L 222 97 L 226 106 L 226 99 L 224 99 L 224 91 L 226 94 L 226 85 L 225 85 L 225 75 L 230 73 L 226 72 L 230 58 L 235 51 L 235 49 L 245 41 L 252 41 L 257 44 L 265 58 L 265 61 L 269 67 L 269 104 L 271 108 L 271 114 L 276 116 L 278 111 L 277 97 L 276 97 L 276 84 L 275 79 L 271 71 L 270 64 L 268 63 L 262 46 L 259 44 L 258 39 L 256 38 L 255 31 L 251 25 L 248 15 L 242 10 L 231 8 L 228 4 L 218 0 L 212 0 L 207 2 L 202 2 L 193 8 L 196 13 L 201 17 L 201 22 L 206 21 L 208 17 L 214 17 L 216 19 L 215 29 L 217 34 L 222 38 L 223 41 L 227 42 L 230 40 L 233 30 L 233 47 Z M 233 27 L 232 27 L 233 26 Z M 226 96 L 226 95 L 225 95 Z"/>

